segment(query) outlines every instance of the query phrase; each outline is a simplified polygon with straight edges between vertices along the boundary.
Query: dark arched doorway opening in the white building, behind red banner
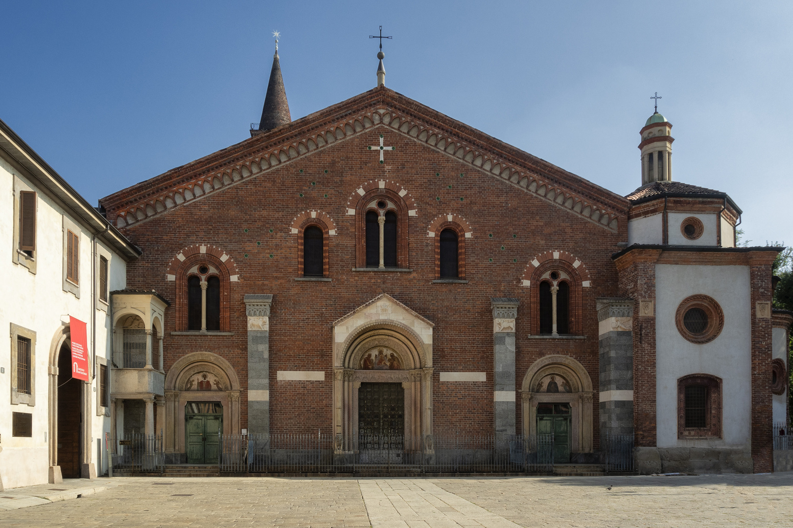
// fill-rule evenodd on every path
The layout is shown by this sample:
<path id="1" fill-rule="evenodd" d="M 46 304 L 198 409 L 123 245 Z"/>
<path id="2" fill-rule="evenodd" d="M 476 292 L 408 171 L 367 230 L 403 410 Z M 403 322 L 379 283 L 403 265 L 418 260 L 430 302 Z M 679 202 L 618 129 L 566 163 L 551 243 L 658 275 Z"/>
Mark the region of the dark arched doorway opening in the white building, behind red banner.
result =
<path id="1" fill-rule="evenodd" d="M 82 386 L 71 377 L 71 348 L 64 342 L 58 352 L 57 454 L 63 478 L 82 476 Z"/>

